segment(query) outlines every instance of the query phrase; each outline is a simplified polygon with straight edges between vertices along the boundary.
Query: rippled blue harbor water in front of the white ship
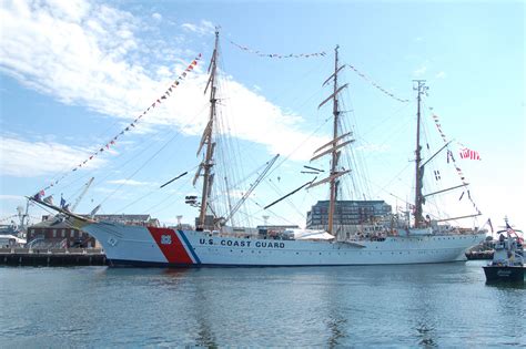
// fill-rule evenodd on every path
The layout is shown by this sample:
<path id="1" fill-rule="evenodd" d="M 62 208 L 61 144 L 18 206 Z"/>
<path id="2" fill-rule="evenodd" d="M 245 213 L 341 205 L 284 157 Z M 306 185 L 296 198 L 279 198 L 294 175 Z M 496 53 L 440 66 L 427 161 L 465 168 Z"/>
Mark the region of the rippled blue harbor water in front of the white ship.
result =
<path id="1" fill-rule="evenodd" d="M 524 347 L 526 288 L 485 263 L 0 267 L 0 347 Z"/>

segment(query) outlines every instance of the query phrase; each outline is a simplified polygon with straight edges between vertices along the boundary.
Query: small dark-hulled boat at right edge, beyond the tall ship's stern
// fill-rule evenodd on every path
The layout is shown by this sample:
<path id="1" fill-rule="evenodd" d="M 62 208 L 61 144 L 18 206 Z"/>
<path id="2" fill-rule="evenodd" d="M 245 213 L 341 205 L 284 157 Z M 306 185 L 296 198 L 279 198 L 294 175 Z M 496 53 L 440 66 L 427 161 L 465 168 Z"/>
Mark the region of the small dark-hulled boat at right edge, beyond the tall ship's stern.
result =
<path id="1" fill-rule="evenodd" d="M 506 220 L 506 230 L 499 230 L 495 253 L 489 265 L 484 266 L 486 283 L 524 283 L 524 238 Z"/>

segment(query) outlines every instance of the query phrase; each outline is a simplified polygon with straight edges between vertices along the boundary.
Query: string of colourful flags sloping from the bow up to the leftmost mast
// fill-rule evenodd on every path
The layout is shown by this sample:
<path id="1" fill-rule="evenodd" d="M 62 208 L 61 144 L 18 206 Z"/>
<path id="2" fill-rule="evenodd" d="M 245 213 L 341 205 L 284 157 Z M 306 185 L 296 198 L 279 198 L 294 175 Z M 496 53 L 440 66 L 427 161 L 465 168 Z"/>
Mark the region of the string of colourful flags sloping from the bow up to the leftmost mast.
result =
<path id="1" fill-rule="evenodd" d="M 174 90 L 179 86 L 179 84 L 186 78 L 186 75 L 193 71 L 193 69 L 198 65 L 198 62 L 201 60 L 201 53 L 195 57 L 195 59 L 186 66 L 184 72 L 181 73 L 181 75 L 175 79 L 170 86 L 164 91 L 162 95 L 160 95 L 156 100 L 153 101 L 152 104 L 148 106 L 142 113 L 140 113 L 130 124 L 128 124 L 120 133 L 118 133 L 115 136 L 113 136 L 110 141 L 108 141 L 104 145 L 102 145 L 98 151 L 92 153 L 88 158 L 85 158 L 83 162 L 79 163 L 77 166 L 74 166 L 70 172 L 64 173 L 60 178 L 57 181 L 52 182 L 50 185 L 44 187 L 43 189 L 40 189 L 34 198 L 40 199 L 45 195 L 45 191 L 55 186 L 61 182 L 65 176 L 69 174 L 79 171 L 80 168 L 84 167 L 90 161 L 95 158 L 98 155 L 102 154 L 104 151 L 110 150 L 110 147 L 113 147 L 117 144 L 117 141 L 119 137 L 124 135 L 127 132 L 130 132 L 132 129 L 134 129 L 138 123 L 141 121 L 142 117 L 144 117 L 150 111 L 155 109 L 155 106 L 160 105 L 162 102 L 168 100 L 173 93 Z"/>

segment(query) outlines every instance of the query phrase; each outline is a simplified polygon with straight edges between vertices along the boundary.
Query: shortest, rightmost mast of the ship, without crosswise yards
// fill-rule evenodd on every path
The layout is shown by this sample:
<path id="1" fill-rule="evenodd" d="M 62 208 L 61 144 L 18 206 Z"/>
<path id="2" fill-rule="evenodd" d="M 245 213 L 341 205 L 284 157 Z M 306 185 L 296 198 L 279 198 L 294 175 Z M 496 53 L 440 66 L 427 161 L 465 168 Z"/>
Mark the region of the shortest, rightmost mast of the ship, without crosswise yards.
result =
<path id="1" fill-rule="evenodd" d="M 422 216 L 422 205 L 424 203 L 424 196 L 422 195 L 422 185 L 424 177 L 424 168 L 421 166 L 422 156 L 421 156 L 421 102 L 422 94 L 427 91 L 425 85 L 425 80 L 414 80 L 417 83 L 413 90 L 417 91 L 417 109 L 416 109 L 416 160 L 415 160 L 415 228 L 417 228 L 421 223 L 424 220 Z"/>

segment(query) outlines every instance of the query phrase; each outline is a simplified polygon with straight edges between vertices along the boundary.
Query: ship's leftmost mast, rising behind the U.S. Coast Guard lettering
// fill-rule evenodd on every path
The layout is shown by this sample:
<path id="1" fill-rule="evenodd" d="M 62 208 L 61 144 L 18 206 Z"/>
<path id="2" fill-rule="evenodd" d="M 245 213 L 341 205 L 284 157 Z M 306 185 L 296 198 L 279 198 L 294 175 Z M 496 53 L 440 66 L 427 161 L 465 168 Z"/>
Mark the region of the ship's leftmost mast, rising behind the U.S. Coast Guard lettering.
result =
<path id="1" fill-rule="evenodd" d="M 198 150 L 198 154 L 199 154 L 203 145 L 206 144 L 204 161 L 201 163 L 199 171 L 195 175 L 195 179 L 196 179 L 196 177 L 201 173 L 201 170 L 204 171 L 203 172 L 203 191 L 201 195 L 201 209 L 200 209 L 198 227 L 196 227 L 198 229 L 205 228 L 206 208 L 209 205 L 209 196 L 212 189 L 212 182 L 213 182 L 213 176 L 214 176 L 214 174 L 212 173 L 212 167 L 214 165 L 213 155 L 214 155 L 215 142 L 213 142 L 212 140 L 212 134 L 213 134 L 213 125 L 214 125 L 214 120 L 215 120 L 215 103 L 218 101 L 215 97 L 215 90 L 216 90 L 215 75 L 218 71 L 218 45 L 219 45 L 219 29 L 215 28 L 214 52 L 212 54 L 212 59 L 210 61 L 210 66 L 209 66 L 210 78 L 209 78 L 209 82 L 206 83 L 206 88 L 204 89 L 204 93 L 206 93 L 206 90 L 210 88 L 210 117 L 209 117 L 206 127 L 204 129 L 203 136 L 201 138 L 201 144 Z"/>

